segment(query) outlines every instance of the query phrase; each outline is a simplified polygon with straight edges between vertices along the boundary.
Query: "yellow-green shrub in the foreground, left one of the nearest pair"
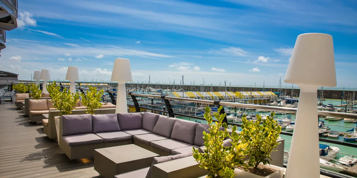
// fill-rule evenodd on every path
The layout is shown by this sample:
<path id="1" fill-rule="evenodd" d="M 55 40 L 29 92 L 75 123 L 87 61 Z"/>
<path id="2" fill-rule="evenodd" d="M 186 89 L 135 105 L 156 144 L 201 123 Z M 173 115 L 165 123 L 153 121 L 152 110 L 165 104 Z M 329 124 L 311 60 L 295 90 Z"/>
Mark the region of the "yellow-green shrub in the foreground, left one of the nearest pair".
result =
<path id="1" fill-rule="evenodd" d="M 208 128 L 209 133 L 203 131 L 203 140 L 205 141 L 204 153 L 198 153 L 198 150 L 192 148 L 193 158 L 201 168 L 205 168 L 208 171 L 208 178 L 233 178 L 234 169 L 236 166 L 245 166 L 243 158 L 247 155 L 248 144 L 242 144 L 239 139 L 240 136 L 235 131 L 237 126 L 232 127 L 232 136 L 228 134 L 227 124 L 222 123 L 226 114 L 219 114 L 222 106 L 218 108 L 218 112 L 213 113 L 216 120 L 213 122 L 210 108 L 206 106 L 205 119 L 210 125 Z M 213 122 L 213 123 L 212 123 Z M 220 130 L 220 127 L 224 127 L 224 131 Z M 223 141 L 226 137 L 232 139 L 232 146 L 223 146 Z"/>

